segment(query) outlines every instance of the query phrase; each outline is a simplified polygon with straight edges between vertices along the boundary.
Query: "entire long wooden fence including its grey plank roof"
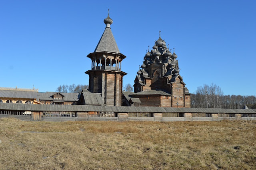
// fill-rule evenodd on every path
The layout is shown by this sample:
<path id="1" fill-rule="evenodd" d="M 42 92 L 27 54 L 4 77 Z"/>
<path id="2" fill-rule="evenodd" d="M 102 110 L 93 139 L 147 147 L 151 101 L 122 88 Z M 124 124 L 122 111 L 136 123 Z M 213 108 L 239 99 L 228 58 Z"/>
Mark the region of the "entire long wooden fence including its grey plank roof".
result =
<path id="1" fill-rule="evenodd" d="M 4 117 L 26 121 L 256 120 L 256 110 L 0 103 L 0 118 Z"/>

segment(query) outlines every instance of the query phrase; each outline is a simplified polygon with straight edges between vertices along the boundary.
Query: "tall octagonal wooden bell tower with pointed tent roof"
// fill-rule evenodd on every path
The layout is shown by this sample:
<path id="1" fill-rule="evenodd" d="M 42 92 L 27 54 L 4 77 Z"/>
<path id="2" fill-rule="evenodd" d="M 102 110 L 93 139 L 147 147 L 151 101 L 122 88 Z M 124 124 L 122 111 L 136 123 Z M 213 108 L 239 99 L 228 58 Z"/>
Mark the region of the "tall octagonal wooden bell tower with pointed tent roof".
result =
<path id="1" fill-rule="evenodd" d="M 86 72 L 89 75 L 88 90 L 100 93 L 105 106 L 121 106 L 123 76 L 126 75 L 121 71 L 121 64 L 126 56 L 120 53 L 112 34 L 110 25 L 113 20 L 109 13 L 104 23 L 106 28 L 98 45 L 87 56 L 92 60 L 92 69 Z"/>

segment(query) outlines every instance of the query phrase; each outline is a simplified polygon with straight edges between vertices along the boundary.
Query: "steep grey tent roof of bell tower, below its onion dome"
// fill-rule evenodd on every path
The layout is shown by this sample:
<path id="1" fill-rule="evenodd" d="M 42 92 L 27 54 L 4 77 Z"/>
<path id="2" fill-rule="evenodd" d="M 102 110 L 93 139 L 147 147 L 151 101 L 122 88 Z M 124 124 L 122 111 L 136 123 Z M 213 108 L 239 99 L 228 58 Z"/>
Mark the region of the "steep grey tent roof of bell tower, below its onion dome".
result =
<path id="1" fill-rule="evenodd" d="M 96 46 L 94 52 L 114 52 L 120 53 L 116 40 L 112 34 L 111 28 L 106 27 L 98 45 Z"/>

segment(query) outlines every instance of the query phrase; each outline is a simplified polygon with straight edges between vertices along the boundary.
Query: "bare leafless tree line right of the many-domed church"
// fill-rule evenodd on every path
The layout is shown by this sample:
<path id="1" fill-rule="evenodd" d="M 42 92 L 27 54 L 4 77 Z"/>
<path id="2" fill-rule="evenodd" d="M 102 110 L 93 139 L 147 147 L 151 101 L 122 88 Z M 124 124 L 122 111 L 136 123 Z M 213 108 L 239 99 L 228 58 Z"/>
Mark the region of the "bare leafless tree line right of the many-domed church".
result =
<path id="1" fill-rule="evenodd" d="M 256 96 L 224 95 L 216 84 L 204 84 L 191 94 L 192 108 L 242 109 L 245 105 L 255 109 Z"/>

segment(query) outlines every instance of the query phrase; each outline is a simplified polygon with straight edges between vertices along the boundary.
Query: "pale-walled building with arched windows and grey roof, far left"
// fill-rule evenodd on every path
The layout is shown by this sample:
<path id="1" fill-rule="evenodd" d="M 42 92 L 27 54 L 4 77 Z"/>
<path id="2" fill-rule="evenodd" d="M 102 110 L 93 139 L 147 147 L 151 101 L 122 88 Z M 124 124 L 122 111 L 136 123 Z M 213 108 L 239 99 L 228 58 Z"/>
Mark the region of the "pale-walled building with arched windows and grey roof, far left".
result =
<path id="1" fill-rule="evenodd" d="M 37 93 L 35 89 L 0 88 L 0 103 L 42 104 Z"/>

